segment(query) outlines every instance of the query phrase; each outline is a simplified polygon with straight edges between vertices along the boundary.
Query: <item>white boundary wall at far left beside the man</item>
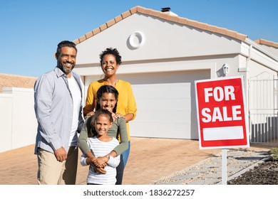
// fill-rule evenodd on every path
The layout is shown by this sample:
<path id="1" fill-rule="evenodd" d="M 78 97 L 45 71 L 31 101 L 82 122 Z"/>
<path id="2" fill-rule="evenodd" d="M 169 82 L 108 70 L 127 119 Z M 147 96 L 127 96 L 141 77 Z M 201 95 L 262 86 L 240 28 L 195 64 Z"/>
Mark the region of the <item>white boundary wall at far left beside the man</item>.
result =
<path id="1" fill-rule="evenodd" d="M 34 90 L 3 88 L 0 93 L 0 153 L 34 144 L 36 127 Z"/>

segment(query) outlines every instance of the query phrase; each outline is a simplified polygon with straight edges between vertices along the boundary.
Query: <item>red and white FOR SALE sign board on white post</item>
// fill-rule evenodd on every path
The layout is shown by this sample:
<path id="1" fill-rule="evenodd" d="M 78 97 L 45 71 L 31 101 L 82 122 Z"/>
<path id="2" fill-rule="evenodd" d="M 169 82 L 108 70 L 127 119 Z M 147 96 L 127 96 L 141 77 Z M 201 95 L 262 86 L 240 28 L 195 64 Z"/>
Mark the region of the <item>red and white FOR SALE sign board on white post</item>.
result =
<path id="1" fill-rule="evenodd" d="M 243 77 L 195 81 L 200 149 L 249 147 Z"/>

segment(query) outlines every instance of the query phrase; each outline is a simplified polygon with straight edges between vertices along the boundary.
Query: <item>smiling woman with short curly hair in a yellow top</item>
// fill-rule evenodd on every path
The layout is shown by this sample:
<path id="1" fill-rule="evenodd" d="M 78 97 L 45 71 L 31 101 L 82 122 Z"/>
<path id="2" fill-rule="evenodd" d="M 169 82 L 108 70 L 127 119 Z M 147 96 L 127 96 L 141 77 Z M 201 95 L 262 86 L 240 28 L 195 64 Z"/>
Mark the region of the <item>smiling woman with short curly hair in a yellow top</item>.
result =
<path id="1" fill-rule="evenodd" d="M 130 153 L 130 129 L 128 122 L 135 119 L 137 107 L 133 90 L 129 82 L 118 80 L 116 72 L 120 67 L 121 56 L 116 48 L 106 48 L 100 55 L 101 68 L 104 73 L 104 78 L 96 82 L 91 82 L 88 87 L 86 106 L 83 108 L 84 116 L 91 116 L 96 109 L 97 97 L 96 92 L 102 85 L 111 85 L 119 92 L 118 106 L 116 110 L 116 117 L 123 117 L 126 122 L 128 131 L 128 150 L 123 153 L 124 166 L 128 161 Z"/>

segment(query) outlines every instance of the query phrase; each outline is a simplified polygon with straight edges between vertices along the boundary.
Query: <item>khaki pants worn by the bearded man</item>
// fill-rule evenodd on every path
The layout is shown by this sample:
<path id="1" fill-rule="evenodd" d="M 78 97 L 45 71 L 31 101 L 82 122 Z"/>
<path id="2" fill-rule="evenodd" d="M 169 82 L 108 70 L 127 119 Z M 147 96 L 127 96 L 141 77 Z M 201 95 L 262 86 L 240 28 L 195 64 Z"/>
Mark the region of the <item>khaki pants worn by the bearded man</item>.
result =
<path id="1" fill-rule="evenodd" d="M 74 185 L 78 163 L 78 148 L 70 146 L 66 161 L 57 161 L 54 154 L 38 149 L 39 185 Z"/>

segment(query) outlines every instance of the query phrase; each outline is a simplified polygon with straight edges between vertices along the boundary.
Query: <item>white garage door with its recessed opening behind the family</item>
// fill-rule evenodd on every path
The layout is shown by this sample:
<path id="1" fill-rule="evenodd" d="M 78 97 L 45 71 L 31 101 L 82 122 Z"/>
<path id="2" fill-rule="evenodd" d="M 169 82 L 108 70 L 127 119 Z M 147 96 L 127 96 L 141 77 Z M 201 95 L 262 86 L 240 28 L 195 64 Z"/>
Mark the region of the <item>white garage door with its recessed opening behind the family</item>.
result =
<path id="1" fill-rule="evenodd" d="M 138 113 L 130 136 L 198 139 L 195 80 L 209 70 L 118 75 L 133 87 Z"/>

